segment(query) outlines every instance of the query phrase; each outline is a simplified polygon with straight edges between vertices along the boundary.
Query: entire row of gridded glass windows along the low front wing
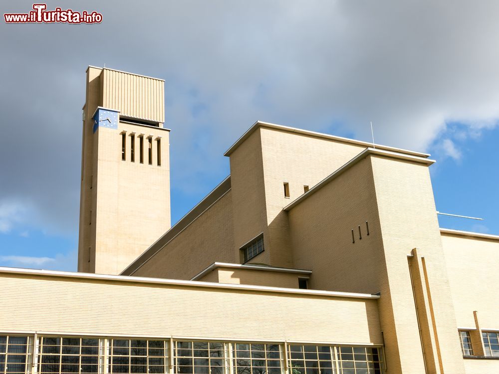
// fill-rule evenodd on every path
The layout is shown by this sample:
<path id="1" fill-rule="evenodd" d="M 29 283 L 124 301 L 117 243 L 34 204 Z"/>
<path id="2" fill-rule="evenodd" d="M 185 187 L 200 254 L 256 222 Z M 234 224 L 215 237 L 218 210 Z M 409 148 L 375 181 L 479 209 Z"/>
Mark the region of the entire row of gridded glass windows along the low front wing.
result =
<path id="1" fill-rule="evenodd" d="M 381 347 L 0 335 L 2 374 L 381 374 L 382 371 Z"/>

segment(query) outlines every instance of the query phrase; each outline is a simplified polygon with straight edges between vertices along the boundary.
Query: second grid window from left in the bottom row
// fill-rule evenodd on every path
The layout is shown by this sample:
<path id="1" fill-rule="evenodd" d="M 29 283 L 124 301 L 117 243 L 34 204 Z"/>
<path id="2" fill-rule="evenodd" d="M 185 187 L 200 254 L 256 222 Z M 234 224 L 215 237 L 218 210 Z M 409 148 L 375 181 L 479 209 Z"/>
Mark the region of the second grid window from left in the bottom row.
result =
<path id="1" fill-rule="evenodd" d="M 99 339 L 42 337 L 38 373 L 99 373 Z"/>

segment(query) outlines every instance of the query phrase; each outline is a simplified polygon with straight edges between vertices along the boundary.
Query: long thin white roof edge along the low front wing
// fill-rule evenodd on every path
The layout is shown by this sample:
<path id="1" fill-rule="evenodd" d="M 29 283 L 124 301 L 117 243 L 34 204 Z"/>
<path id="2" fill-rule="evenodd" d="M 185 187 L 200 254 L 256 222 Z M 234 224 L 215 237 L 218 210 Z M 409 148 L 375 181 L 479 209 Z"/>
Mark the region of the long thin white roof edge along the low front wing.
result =
<path id="1" fill-rule="evenodd" d="M 123 275 L 105 275 L 105 274 L 93 274 L 93 273 L 54 271 L 54 270 L 35 270 L 35 269 L 0 267 L 0 276 L 3 274 L 48 276 L 54 278 L 74 278 L 79 280 L 103 280 L 103 281 L 115 281 L 115 282 L 125 282 L 125 283 L 162 284 L 168 286 L 186 286 L 193 288 L 217 288 L 217 289 L 226 289 L 233 291 L 286 293 L 286 294 L 298 294 L 302 296 L 328 296 L 328 297 L 351 298 L 351 299 L 379 299 L 379 295 L 353 293 L 353 292 L 303 290 L 299 288 L 253 286 L 253 285 L 244 285 L 244 284 L 226 284 L 226 283 L 200 282 L 200 281 L 179 280 L 179 279 L 132 277 L 132 276 L 123 276 Z"/>

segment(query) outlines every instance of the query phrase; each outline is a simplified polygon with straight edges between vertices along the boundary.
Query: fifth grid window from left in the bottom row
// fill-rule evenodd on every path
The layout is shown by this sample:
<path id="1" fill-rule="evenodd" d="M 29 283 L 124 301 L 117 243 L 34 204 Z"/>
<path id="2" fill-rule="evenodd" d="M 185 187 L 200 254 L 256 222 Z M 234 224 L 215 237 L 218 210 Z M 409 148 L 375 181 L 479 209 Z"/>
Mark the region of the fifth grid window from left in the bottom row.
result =
<path id="1" fill-rule="evenodd" d="M 236 374 L 281 374 L 281 345 L 236 343 L 232 345 Z"/>

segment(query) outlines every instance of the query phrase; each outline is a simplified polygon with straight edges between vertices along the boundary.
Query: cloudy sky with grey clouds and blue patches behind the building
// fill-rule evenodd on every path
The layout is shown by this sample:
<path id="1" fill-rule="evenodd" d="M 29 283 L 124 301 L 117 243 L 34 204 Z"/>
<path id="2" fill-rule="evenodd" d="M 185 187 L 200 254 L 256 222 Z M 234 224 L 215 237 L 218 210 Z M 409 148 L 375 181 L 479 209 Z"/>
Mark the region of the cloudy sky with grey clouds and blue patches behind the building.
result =
<path id="1" fill-rule="evenodd" d="M 32 2 L 2 1 L 1 13 Z M 172 222 L 256 120 L 432 153 L 437 208 L 499 233 L 499 2 L 49 1 L 0 25 L 0 265 L 76 269 L 87 65 L 165 79 Z"/>

